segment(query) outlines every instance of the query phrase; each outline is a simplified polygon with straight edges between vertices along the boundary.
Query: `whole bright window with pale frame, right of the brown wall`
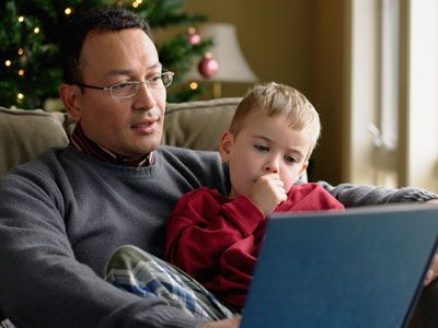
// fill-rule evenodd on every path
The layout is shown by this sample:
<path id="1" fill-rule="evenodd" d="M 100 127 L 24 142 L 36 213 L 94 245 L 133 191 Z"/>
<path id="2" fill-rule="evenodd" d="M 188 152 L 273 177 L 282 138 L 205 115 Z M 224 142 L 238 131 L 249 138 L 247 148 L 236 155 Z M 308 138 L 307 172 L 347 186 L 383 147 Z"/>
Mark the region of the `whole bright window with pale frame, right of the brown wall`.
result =
<path id="1" fill-rule="evenodd" d="M 345 178 L 438 191 L 438 1 L 351 0 L 349 13 Z"/>

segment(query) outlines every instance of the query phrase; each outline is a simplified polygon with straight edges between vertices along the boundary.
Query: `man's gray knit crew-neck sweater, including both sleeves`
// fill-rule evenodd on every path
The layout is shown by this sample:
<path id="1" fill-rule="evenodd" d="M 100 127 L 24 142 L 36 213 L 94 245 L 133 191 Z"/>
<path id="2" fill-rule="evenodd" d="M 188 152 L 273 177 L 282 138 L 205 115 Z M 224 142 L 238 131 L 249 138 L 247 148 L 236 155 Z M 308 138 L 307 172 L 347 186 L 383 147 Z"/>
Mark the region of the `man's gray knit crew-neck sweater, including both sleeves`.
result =
<path id="1" fill-rule="evenodd" d="M 0 305 L 18 327 L 196 327 L 158 298 L 140 298 L 101 277 L 112 251 L 164 250 L 178 198 L 208 186 L 226 194 L 217 153 L 162 147 L 150 167 L 100 162 L 53 149 L 0 180 Z M 428 200 L 416 189 L 323 186 L 346 206 Z"/>

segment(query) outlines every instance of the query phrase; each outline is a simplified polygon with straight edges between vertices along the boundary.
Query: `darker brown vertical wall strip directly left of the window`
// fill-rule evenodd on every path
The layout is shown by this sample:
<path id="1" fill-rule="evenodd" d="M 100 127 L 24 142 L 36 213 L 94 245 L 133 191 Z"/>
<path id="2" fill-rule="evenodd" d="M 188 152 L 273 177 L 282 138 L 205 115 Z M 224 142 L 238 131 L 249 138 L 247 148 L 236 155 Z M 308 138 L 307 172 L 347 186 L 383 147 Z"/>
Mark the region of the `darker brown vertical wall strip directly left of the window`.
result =
<path id="1" fill-rule="evenodd" d="M 368 0 L 367 0 L 368 1 Z M 349 89 L 348 22 L 345 22 L 349 0 L 318 0 L 315 5 L 316 37 L 313 104 L 321 115 L 323 133 L 314 153 L 315 179 L 332 184 L 345 183 L 345 138 L 349 126 L 347 98 Z M 347 30 L 347 31 L 346 31 Z"/>

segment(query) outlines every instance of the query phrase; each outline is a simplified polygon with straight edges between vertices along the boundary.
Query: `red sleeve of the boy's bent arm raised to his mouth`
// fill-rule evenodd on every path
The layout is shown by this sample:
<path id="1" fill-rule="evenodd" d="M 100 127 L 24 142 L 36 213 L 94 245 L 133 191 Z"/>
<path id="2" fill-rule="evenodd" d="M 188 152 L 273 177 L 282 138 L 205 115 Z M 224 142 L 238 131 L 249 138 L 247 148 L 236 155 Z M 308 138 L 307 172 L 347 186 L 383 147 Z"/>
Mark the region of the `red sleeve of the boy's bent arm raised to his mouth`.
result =
<path id="1" fill-rule="evenodd" d="M 183 196 L 166 223 L 165 259 L 195 279 L 216 271 L 221 254 L 252 235 L 264 222 L 244 196 L 218 201 L 216 190 L 199 188 Z"/>

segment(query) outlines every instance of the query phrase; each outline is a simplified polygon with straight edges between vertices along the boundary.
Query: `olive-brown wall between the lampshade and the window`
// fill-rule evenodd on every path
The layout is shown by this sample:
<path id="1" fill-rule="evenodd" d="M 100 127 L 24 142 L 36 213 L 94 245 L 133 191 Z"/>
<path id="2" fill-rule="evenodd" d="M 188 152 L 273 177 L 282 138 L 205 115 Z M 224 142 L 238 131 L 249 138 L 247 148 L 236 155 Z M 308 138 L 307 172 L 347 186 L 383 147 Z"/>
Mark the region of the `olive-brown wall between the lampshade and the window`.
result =
<path id="1" fill-rule="evenodd" d="M 303 92 L 321 114 L 323 139 L 311 178 L 341 183 L 344 0 L 187 0 L 185 10 L 237 26 L 242 51 L 262 81 Z M 247 85 L 223 85 L 241 96 Z"/>

